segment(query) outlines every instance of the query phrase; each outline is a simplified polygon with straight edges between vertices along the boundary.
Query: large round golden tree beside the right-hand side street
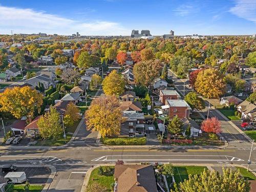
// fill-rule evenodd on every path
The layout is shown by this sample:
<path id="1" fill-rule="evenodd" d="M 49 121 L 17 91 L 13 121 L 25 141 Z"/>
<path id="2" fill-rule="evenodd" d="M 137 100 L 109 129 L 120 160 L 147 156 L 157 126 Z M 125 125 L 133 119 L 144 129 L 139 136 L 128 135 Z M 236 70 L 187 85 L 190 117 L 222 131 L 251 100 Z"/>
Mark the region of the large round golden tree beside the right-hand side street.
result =
<path id="1" fill-rule="evenodd" d="M 219 98 L 225 93 L 223 75 L 216 69 L 206 69 L 198 73 L 195 89 L 206 98 Z"/>

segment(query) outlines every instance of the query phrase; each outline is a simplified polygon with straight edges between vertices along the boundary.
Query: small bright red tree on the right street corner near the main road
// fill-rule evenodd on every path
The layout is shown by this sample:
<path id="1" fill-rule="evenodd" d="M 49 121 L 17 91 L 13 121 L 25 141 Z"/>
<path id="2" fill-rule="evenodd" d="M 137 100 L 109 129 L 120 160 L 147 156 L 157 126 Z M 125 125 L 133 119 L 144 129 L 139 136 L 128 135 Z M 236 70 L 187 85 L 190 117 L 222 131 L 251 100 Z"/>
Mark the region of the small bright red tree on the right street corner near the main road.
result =
<path id="1" fill-rule="evenodd" d="M 206 119 L 202 122 L 201 129 L 207 133 L 220 133 L 221 132 L 221 122 L 217 117 L 212 117 Z"/>

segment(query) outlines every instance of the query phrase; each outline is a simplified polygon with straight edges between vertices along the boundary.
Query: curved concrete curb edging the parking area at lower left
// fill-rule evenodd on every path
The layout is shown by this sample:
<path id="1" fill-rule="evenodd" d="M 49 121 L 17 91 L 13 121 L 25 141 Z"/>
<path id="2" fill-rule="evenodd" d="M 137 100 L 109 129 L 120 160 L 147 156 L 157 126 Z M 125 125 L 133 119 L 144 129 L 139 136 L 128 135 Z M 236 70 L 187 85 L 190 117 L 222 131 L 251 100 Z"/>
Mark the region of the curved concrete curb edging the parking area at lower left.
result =
<path id="1" fill-rule="evenodd" d="M 41 192 L 47 192 L 53 179 L 55 178 L 56 176 L 56 168 L 55 166 L 52 166 L 52 165 L 28 165 L 28 164 L 15 164 L 15 166 L 17 167 L 48 167 L 51 169 L 51 174 L 49 176 L 49 178 L 47 179 L 46 181 L 46 184 L 44 186 L 44 188 L 41 190 Z"/>

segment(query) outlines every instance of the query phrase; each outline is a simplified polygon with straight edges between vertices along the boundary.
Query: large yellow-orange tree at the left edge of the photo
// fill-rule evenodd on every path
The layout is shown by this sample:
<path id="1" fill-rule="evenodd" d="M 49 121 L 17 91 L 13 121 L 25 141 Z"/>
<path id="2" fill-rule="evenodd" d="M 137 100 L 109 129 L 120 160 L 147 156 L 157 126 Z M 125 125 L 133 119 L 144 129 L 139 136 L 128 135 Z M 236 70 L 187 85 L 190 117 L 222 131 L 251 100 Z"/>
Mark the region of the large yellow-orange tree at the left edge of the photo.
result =
<path id="1" fill-rule="evenodd" d="M 35 109 L 40 110 L 42 94 L 26 86 L 6 89 L 0 94 L 0 111 L 9 112 L 16 118 L 34 114 Z"/>

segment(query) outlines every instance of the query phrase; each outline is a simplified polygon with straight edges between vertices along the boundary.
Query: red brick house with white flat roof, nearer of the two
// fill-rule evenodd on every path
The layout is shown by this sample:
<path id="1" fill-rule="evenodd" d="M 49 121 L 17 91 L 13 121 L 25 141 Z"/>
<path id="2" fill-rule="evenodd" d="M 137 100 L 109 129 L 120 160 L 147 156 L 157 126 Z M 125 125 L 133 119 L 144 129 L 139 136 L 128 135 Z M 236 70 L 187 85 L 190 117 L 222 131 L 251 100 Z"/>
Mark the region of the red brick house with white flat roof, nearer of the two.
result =
<path id="1" fill-rule="evenodd" d="M 183 99 L 166 99 L 165 105 L 161 106 L 164 114 L 170 119 L 179 117 L 180 119 L 189 118 L 190 106 Z"/>

